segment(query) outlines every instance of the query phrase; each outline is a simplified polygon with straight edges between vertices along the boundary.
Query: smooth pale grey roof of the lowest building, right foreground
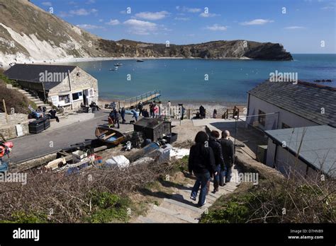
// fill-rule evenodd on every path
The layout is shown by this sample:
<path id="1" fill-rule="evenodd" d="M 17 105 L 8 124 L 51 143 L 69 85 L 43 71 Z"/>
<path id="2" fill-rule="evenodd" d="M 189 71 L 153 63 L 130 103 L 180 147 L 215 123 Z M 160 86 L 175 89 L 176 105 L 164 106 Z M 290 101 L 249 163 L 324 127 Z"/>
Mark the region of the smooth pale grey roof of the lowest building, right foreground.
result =
<path id="1" fill-rule="evenodd" d="M 304 132 L 306 131 L 306 132 Z M 304 132 L 304 134 L 303 134 Z M 311 167 L 336 177 L 336 129 L 328 126 L 298 127 L 265 131 L 267 136 Z"/>

